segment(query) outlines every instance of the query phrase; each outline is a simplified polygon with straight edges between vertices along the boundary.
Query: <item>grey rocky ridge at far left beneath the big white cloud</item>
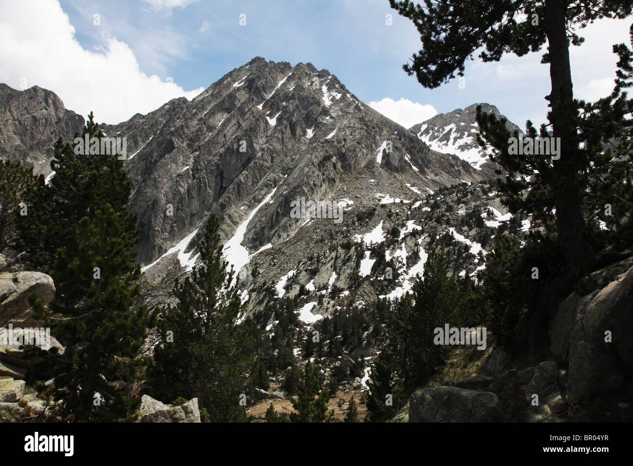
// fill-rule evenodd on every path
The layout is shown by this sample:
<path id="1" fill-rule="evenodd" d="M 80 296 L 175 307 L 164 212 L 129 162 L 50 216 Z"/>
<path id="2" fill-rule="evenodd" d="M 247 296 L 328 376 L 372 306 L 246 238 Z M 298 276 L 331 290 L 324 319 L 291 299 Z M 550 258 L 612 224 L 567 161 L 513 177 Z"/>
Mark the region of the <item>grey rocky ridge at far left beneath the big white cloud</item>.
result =
<path id="1" fill-rule="evenodd" d="M 0 83 L 0 159 L 20 161 L 35 174 L 51 172 L 53 143 L 70 140 L 84 118 L 66 110 L 51 91 L 33 86 L 17 91 Z"/>

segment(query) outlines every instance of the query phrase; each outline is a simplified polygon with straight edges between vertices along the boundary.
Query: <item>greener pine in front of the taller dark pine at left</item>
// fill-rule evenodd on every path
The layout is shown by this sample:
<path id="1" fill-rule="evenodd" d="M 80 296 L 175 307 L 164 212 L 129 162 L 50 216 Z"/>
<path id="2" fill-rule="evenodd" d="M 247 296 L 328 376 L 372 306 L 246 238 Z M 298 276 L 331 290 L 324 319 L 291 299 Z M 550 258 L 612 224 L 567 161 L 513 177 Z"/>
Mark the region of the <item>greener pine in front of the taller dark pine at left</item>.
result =
<path id="1" fill-rule="evenodd" d="M 115 420 L 134 408 L 120 383 L 139 380 L 137 355 L 152 323 L 145 306 L 133 306 L 140 275 L 132 264 L 135 233 L 110 205 L 92 221 L 84 217 L 77 250 L 59 253 L 66 280 L 48 309 L 40 307 L 66 347 L 63 356 L 53 356 L 56 398 L 76 420 Z M 97 392 L 103 404 L 94 406 Z"/>

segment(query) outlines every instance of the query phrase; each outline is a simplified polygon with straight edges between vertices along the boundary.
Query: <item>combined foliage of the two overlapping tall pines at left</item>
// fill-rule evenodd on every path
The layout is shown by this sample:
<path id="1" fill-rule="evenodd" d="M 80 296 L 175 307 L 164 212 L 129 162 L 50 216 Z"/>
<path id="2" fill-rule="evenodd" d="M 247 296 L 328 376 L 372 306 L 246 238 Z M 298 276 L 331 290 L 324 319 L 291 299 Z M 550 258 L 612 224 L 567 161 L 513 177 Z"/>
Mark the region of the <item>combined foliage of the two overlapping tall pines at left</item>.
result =
<path id="1" fill-rule="evenodd" d="M 84 134 L 103 134 L 92 113 Z M 45 269 L 57 289 L 47 308 L 34 301 L 34 315 L 66 348 L 45 365 L 66 418 L 116 420 L 134 410 L 127 384 L 138 380 L 137 356 L 153 322 L 146 307 L 134 306 L 136 218 L 123 207 L 130 183 L 116 155 L 75 155 L 61 139 L 55 153 L 56 176 L 28 191 L 36 202 L 20 222 L 33 262 L 52 261 Z"/>

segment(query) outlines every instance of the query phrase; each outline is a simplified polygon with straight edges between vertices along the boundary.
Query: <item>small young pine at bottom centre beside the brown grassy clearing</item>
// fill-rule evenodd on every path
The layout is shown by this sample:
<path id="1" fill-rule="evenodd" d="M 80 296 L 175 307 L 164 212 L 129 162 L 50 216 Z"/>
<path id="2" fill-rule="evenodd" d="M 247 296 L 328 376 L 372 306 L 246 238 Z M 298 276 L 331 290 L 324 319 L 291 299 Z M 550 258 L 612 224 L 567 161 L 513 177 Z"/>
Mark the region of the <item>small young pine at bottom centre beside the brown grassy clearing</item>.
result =
<path id="1" fill-rule="evenodd" d="M 297 398 L 292 407 L 297 411 L 291 415 L 292 422 L 330 422 L 332 413 L 327 412 L 330 395 L 321 387 L 315 367 L 308 361 L 301 371 Z"/>

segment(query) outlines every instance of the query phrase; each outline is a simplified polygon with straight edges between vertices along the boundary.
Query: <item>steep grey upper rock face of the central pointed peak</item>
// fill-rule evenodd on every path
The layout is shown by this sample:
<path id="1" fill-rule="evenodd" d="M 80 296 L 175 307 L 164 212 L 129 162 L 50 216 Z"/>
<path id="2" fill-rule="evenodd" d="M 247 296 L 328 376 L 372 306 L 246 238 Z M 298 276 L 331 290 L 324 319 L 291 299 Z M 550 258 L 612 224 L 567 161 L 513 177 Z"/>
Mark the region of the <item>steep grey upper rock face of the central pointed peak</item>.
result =
<path id="1" fill-rule="evenodd" d="M 254 58 L 191 102 L 172 100 L 103 129 L 128 138 L 130 207 L 139 215 L 142 264 L 203 226 L 211 212 L 222 219 L 223 240 L 230 238 L 276 188 L 251 219 L 242 243 L 250 251 L 274 246 L 303 223 L 289 216 L 292 200 L 330 199 L 344 177 L 377 159 L 395 176 L 412 167 L 432 172 L 434 182 L 424 178 L 420 186 L 477 176 L 457 158 L 431 157 L 415 135 L 310 63 L 291 67 Z M 391 146 L 378 157 L 384 141 Z M 168 205 L 173 216 L 166 213 Z"/>

